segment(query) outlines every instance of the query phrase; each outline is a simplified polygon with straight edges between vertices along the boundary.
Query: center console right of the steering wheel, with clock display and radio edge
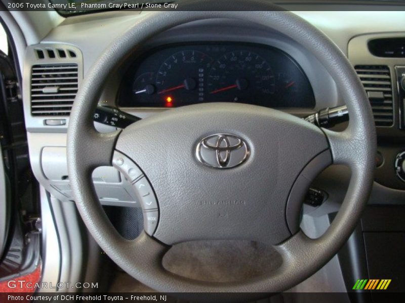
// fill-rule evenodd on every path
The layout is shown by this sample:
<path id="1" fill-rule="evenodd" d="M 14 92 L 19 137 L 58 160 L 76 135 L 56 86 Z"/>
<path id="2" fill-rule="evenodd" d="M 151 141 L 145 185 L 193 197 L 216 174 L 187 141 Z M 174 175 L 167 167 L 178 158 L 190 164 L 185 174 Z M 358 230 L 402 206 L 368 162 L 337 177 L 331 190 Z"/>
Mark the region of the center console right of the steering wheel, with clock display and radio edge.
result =
<path id="1" fill-rule="evenodd" d="M 378 135 L 375 187 L 386 194 L 378 195 L 374 189 L 360 224 L 338 257 L 352 301 L 377 303 L 381 290 L 376 286 L 358 291 L 353 288 L 358 279 L 391 280 L 387 287 L 391 292 L 401 291 L 405 284 L 405 201 L 391 198 L 405 190 L 405 34 L 354 37 L 348 57 L 373 109 Z"/>

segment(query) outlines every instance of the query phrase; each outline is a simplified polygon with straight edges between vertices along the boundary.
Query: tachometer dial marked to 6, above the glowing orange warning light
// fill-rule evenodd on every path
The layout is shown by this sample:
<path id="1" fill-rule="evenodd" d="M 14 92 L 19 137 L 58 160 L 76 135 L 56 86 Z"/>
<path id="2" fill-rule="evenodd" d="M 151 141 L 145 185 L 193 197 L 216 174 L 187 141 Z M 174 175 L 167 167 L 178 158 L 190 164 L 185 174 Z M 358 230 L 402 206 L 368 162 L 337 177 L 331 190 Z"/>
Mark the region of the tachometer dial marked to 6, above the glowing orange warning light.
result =
<path id="1" fill-rule="evenodd" d="M 205 100 L 205 79 L 212 59 L 205 53 L 187 50 L 167 58 L 156 74 L 156 93 L 176 105 Z"/>

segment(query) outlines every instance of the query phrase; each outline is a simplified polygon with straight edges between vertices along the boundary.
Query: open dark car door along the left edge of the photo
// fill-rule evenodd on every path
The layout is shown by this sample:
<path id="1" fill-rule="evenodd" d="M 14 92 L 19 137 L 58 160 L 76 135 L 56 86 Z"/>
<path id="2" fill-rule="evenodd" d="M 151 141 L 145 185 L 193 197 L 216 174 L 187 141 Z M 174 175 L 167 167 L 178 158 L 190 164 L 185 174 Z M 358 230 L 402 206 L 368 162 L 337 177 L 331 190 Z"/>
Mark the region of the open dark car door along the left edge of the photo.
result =
<path id="1" fill-rule="evenodd" d="M 10 288 L 30 292 L 34 288 L 9 283 L 16 279 L 39 281 L 41 218 L 38 185 L 29 163 L 18 68 L 7 37 L 6 26 L 0 25 L 0 292 Z"/>

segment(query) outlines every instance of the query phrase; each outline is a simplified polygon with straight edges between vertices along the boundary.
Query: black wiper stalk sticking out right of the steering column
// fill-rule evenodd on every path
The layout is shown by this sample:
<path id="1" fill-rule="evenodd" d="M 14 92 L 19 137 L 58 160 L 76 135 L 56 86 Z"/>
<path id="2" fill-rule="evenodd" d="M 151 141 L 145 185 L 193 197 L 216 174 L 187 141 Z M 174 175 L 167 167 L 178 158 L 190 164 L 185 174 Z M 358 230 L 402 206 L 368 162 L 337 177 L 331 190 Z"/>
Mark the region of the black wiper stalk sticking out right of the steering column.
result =
<path id="1" fill-rule="evenodd" d="M 315 114 L 309 115 L 303 118 L 318 127 L 332 127 L 338 123 L 345 122 L 349 120 L 349 112 L 347 107 L 338 106 L 335 108 L 326 108 L 316 112 Z"/>

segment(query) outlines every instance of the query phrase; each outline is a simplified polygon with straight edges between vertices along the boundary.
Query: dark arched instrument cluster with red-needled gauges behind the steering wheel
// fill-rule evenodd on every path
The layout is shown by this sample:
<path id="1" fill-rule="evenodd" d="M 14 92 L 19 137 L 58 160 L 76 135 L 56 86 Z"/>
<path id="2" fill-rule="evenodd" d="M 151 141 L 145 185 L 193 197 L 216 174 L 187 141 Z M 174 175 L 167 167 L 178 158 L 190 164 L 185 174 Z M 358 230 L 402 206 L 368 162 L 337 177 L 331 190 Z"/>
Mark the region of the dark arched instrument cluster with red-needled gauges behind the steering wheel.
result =
<path id="1" fill-rule="evenodd" d="M 118 106 L 169 108 L 235 102 L 271 108 L 314 108 L 298 63 L 256 43 L 172 44 L 139 56 L 121 82 Z"/>

